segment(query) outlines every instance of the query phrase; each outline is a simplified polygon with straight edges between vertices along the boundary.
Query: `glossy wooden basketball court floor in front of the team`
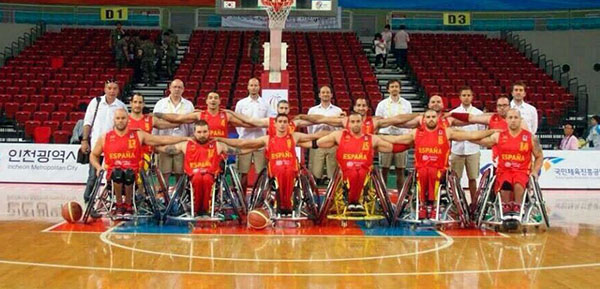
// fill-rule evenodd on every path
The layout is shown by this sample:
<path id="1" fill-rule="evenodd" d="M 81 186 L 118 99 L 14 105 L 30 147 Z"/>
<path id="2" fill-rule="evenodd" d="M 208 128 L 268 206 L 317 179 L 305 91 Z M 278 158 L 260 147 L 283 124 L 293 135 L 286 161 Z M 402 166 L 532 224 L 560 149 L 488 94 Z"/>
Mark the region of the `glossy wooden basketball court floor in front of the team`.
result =
<path id="1" fill-rule="evenodd" d="M 1 288 L 590 288 L 600 192 L 546 192 L 524 235 L 406 227 L 0 222 Z"/>

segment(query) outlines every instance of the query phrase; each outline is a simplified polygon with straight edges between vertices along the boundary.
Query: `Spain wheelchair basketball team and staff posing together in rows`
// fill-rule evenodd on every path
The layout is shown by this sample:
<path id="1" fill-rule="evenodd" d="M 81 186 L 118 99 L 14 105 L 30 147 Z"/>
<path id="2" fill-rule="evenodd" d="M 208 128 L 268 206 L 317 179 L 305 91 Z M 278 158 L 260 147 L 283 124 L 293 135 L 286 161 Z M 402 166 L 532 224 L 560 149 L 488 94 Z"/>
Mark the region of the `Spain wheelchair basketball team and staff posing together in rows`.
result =
<path id="1" fill-rule="evenodd" d="M 406 208 L 405 203 L 398 203 L 398 216 L 417 223 L 456 221 L 462 226 L 471 226 L 475 220 L 481 225 L 482 220 L 473 219 L 473 214 L 481 213 L 481 208 L 477 206 L 483 188 L 478 188 L 476 181 L 480 167 L 479 147 L 482 146 L 493 151 L 496 181 L 492 184 L 492 190 L 502 193 L 504 201 L 501 214 L 520 215 L 523 193 L 530 178 L 536 181 L 543 160 L 539 141 L 529 129 L 536 128 L 537 123 L 531 119 L 528 119 L 528 123 L 521 110 L 515 108 L 515 105 L 523 107 L 526 94 L 524 83 L 517 82 L 512 86 L 513 108 L 509 97 L 501 96 L 496 101 L 496 112 L 486 113 L 472 106 L 473 92 L 469 87 L 460 88 L 461 105 L 451 112 L 446 112 L 439 95 L 433 95 L 423 113 L 410 113 L 411 104 L 401 97 L 399 81 L 390 80 L 387 87 L 390 96 L 376 105 L 374 116 L 370 114 L 365 98 L 356 98 L 351 110 L 342 111 L 331 103 L 332 93 L 328 86 L 320 88 L 320 104 L 310 108 L 307 114 L 289 115 L 287 100 L 279 100 L 274 111 L 261 98 L 260 82 L 256 78 L 248 81 L 248 96 L 235 105 L 235 111 L 223 109 L 219 94 L 213 91 L 205 98 L 205 110 L 193 110 L 193 105 L 187 104 L 193 111 L 178 113 L 178 107 L 185 107 L 187 100 L 182 97 L 185 84 L 175 79 L 169 84 L 169 95 L 161 100 L 168 102 L 171 112 L 157 112 L 157 108 L 160 108 L 157 105 L 154 113 L 143 114 L 144 96 L 134 94 L 130 98 L 131 112 L 119 105 L 108 108 L 107 119 L 113 125 L 106 125 L 110 130 L 101 135 L 98 133 L 95 140 L 93 136 L 90 138 L 90 132 L 93 131 L 88 126 L 91 126 L 95 117 L 93 114 L 97 112 L 95 105 L 90 105 L 85 119 L 91 120 L 84 125 L 81 145 L 82 152 L 91 150 L 91 170 L 85 199 L 89 204 L 94 204 L 87 193 L 94 190 L 97 177 L 101 171 L 105 171 L 105 177 L 113 184 L 116 196 L 114 205 L 110 206 L 110 215 L 116 218 L 135 215 L 133 184 L 141 179 L 140 171 L 149 169 L 148 161 L 156 159 L 162 172 L 160 178 L 169 180 L 173 175 L 176 183 L 182 176 L 189 180 L 193 194 L 188 200 L 189 208 L 184 210 L 183 215 L 192 217 L 192 220 L 202 217 L 225 220 L 223 213 L 215 214 L 217 204 L 213 203 L 215 199 L 212 195 L 216 192 L 215 185 L 221 186 L 217 190 L 224 189 L 223 184 L 216 183 L 216 180 L 223 173 L 228 156 L 233 155 L 236 157 L 235 170 L 239 172 L 241 185 L 241 191 L 236 196 L 239 198 L 237 202 L 247 202 L 247 188 L 253 194 L 248 204 L 241 205 L 239 209 L 246 206 L 261 209 L 248 212 L 267 219 L 259 224 L 259 228 L 275 223 L 270 219 L 281 218 L 298 221 L 309 218 L 315 224 L 320 223 L 320 218 L 331 213 L 328 211 L 331 210 L 329 199 L 335 196 L 327 196 L 322 206 L 314 200 L 310 204 L 303 204 L 297 198 L 305 196 L 302 193 L 295 195 L 295 190 L 306 190 L 304 194 L 315 195 L 311 196 L 313 199 L 319 198 L 316 185 L 329 185 L 330 182 L 341 186 L 344 199 L 342 203 L 336 199 L 338 203 L 334 205 L 334 216 L 343 221 L 377 220 L 377 214 L 381 214 L 392 224 L 396 219 L 391 216 L 396 214 L 394 206 L 388 206 L 390 201 L 386 183 L 393 164 L 397 192 L 404 193 L 402 198 L 407 198 L 406 194 L 411 193 L 417 196 L 414 206 L 409 204 Z M 107 102 L 115 102 L 118 91 L 116 82 L 107 81 L 103 98 Z M 524 113 L 528 112 L 524 110 Z M 238 138 L 228 137 L 230 126 L 236 128 Z M 304 128 L 307 133 L 300 132 Z M 90 140 L 94 143 L 91 147 Z M 296 147 L 310 151 L 308 163 L 299 158 Z M 414 192 L 409 192 L 412 190 L 410 185 L 408 190 L 402 191 L 406 182 L 407 154 L 411 148 L 414 148 L 414 173 L 411 174 L 414 180 L 410 182 L 415 184 Z M 466 151 L 469 154 L 464 154 Z M 379 168 L 375 165 L 376 155 L 381 173 L 377 172 Z M 264 196 L 259 199 L 254 196 L 256 192 L 263 194 L 265 187 L 257 187 L 262 185 L 258 182 L 254 186 L 248 184 L 251 164 L 256 172 L 264 170 L 266 178 L 270 179 L 269 185 L 274 189 L 272 202 L 264 200 Z M 304 171 L 303 177 L 313 182 L 309 188 L 300 184 L 301 169 Z M 460 178 L 465 170 L 469 181 L 468 199 L 464 192 L 458 192 L 462 189 L 457 187 L 461 186 Z M 371 176 L 374 172 L 377 173 Z M 369 186 L 369 179 L 378 178 L 379 174 L 381 179 L 376 189 L 384 191 L 371 200 L 368 194 L 363 193 Z M 445 203 L 436 202 L 441 194 L 441 185 L 450 194 L 444 195 Z M 163 192 L 168 195 L 161 196 L 160 202 L 168 206 L 165 200 L 172 199 L 174 189 Z M 264 205 L 256 203 L 257 200 L 265 202 Z M 302 208 L 303 205 L 309 208 Z M 452 214 L 444 211 L 452 206 L 456 206 Z M 319 207 L 321 212 L 317 212 Z M 403 212 L 404 209 L 407 211 Z M 243 211 L 239 210 L 238 213 Z M 89 212 L 97 215 L 94 208 Z M 242 216 L 236 218 L 241 220 Z M 547 217 L 540 215 L 536 218 L 547 220 Z M 254 227 L 251 219 L 247 221 L 249 227 Z"/>

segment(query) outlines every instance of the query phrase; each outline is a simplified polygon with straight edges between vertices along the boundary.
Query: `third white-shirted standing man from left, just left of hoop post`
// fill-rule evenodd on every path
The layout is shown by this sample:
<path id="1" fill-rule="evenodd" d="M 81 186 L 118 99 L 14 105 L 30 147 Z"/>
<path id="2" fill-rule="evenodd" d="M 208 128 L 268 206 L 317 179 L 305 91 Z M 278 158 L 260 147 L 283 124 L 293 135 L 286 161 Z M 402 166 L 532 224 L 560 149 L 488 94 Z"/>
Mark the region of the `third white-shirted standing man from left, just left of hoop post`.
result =
<path id="1" fill-rule="evenodd" d="M 235 104 L 235 112 L 255 119 L 268 117 L 269 104 L 260 97 L 259 92 L 260 81 L 256 78 L 248 80 L 248 97 L 240 99 Z M 265 129 L 259 127 L 236 127 L 236 130 L 240 139 L 257 139 L 265 135 Z M 264 150 L 238 155 L 237 157 L 237 169 L 241 175 L 240 181 L 244 187 L 244 192 L 248 187 L 248 172 L 252 163 L 254 163 L 254 170 L 257 174 L 265 168 Z"/>

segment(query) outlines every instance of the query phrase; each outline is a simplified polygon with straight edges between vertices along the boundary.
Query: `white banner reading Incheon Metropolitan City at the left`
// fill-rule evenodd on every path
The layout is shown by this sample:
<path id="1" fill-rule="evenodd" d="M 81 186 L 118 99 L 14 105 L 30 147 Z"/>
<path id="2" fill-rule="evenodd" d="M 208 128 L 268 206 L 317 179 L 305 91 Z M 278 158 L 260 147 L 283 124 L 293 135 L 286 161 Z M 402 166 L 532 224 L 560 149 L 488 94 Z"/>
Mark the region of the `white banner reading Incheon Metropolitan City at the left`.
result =
<path id="1" fill-rule="evenodd" d="M 88 165 L 77 163 L 78 145 L 0 144 L 0 182 L 83 184 Z"/>

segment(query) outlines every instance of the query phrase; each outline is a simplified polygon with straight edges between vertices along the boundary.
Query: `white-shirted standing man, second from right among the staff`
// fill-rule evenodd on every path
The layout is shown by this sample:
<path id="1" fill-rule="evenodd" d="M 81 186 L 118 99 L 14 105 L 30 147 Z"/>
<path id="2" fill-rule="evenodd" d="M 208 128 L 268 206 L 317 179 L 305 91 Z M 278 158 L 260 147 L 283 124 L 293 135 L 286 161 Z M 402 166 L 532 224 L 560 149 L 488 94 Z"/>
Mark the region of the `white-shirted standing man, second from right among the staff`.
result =
<path id="1" fill-rule="evenodd" d="M 472 106 L 473 91 L 469 87 L 462 87 L 459 91 L 461 104 L 453 109 L 452 112 L 463 112 L 472 115 L 480 115 L 483 112 Z M 471 124 L 461 127 L 465 131 L 477 131 L 485 129 L 482 125 Z M 469 179 L 469 192 L 471 201 L 475 200 L 477 194 L 477 177 L 479 176 L 479 158 L 481 153 L 478 144 L 468 141 L 453 141 L 452 154 L 450 155 L 450 164 L 453 171 L 456 172 L 458 179 L 462 178 L 465 167 L 467 168 L 467 178 Z"/>

